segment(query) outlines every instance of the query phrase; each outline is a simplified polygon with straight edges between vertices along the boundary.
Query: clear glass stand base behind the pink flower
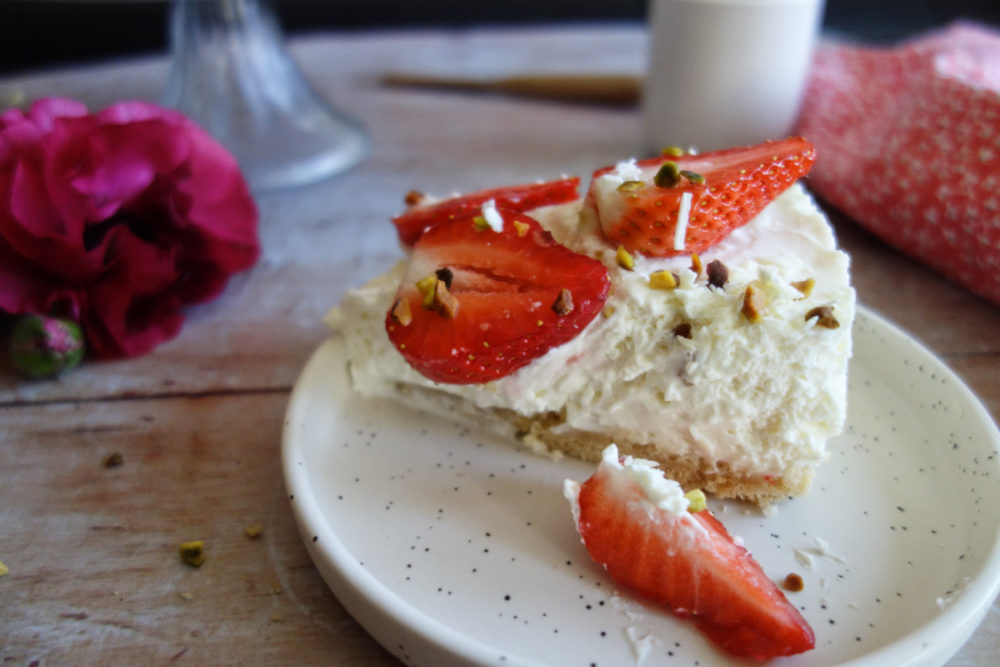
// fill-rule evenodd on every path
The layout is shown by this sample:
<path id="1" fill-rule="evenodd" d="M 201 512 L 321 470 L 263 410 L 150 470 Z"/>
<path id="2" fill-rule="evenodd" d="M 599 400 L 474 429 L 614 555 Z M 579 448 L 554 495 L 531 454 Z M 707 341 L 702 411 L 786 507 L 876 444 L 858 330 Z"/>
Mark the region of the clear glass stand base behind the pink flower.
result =
<path id="1" fill-rule="evenodd" d="M 228 148 L 256 191 L 357 164 L 361 125 L 327 104 L 289 54 L 267 0 L 174 0 L 165 106 Z"/>

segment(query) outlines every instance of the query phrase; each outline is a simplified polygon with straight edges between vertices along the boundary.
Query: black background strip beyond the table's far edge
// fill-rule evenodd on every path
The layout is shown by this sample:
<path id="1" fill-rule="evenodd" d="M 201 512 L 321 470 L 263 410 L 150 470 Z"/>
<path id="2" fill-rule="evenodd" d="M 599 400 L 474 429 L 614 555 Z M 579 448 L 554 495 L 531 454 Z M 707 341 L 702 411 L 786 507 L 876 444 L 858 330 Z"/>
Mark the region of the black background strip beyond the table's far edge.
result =
<path id="1" fill-rule="evenodd" d="M 646 0 L 273 0 L 288 34 L 640 22 Z M 0 0 L 0 73 L 165 53 L 168 0 Z M 824 30 L 891 43 L 964 18 L 1000 29 L 1000 0 L 827 0 Z"/>

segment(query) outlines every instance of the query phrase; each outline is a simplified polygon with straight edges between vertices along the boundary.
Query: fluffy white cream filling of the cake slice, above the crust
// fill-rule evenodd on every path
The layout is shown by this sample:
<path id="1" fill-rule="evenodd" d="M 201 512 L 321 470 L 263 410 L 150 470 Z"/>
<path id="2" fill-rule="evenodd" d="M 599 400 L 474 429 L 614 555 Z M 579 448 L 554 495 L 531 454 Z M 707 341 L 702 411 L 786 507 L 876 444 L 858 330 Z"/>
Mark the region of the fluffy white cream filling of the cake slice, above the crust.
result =
<path id="1" fill-rule="evenodd" d="M 703 265 L 720 260 L 727 267 L 722 287 L 710 286 L 704 270 L 696 275 L 688 255 L 635 256 L 633 270 L 620 267 L 593 211 L 580 202 L 531 215 L 559 242 L 607 266 L 604 313 L 504 378 L 434 383 L 406 364 L 384 330 L 401 262 L 350 291 L 329 318 L 344 335 L 359 393 L 398 396 L 397 383 L 404 383 L 482 409 L 557 413 L 556 431 L 648 444 L 738 474 L 800 472 L 825 458 L 826 440 L 845 419 L 855 297 L 848 257 L 799 185 L 702 254 Z M 677 275 L 676 288 L 649 286 L 650 274 L 663 269 Z M 795 283 L 809 279 L 814 287 L 806 295 Z M 758 322 L 741 312 L 751 283 L 766 299 Z M 832 309 L 837 328 L 806 318 L 819 306 Z M 688 327 L 690 338 L 675 333 Z"/>

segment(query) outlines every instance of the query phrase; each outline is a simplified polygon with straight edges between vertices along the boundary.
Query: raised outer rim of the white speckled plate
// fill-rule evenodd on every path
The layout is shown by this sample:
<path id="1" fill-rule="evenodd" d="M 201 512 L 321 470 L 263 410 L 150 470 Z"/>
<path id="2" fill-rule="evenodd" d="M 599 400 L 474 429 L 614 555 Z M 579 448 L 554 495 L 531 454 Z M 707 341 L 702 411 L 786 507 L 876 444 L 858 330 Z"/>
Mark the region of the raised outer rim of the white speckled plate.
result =
<path id="1" fill-rule="evenodd" d="M 874 334 L 884 333 L 910 345 L 922 356 L 922 363 L 933 365 L 934 372 L 946 377 L 957 389 L 963 407 L 970 409 L 975 420 L 982 426 L 988 443 L 992 444 L 995 452 L 1000 453 L 1000 429 L 996 421 L 957 372 L 919 339 L 885 316 L 860 303 L 857 304 L 856 311 L 856 322 L 867 319 L 872 323 L 872 328 L 876 329 Z M 311 485 L 305 466 L 299 463 L 296 456 L 299 446 L 294 433 L 297 423 L 295 418 L 304 410 L 303 395 L 308 393 L 307 380 L 318 372 L 329 349 L 338 344 L 336 334 L 333 334 L 312 352 L 293 385 L 282 427 L 281 458 L 285 488 L 300 537 L 313 564 L 348 613 L 387 651 L 404 662 L 410 662 L 413 654 L 420 652 L 420 649 L 447 655 L 453 664 L 485 665 L 498 661 L 501 656 L 506 665 L 533 664 L 511 651 L 492 647 L 469 637 L 404 600 L 351 556 L 346 545 L 328 526 L 316 499 L 311 495 L 301 497 L 300 490 L 303 486 L 308 488 Z M 1000 456 L 994 461 L 994 467 L 1000 472 Z M 979 582 L 980 585 L 965 587 L 932 620 L 913 628 L 889 644 L 841 664 L 851 667 L 941 664 L 954 655 L 968 641 L 1000 594 L 1000 522 L 994 526 L 994 530 L 996 534 L 993 545 L 972 578 L 972 581 Z M 321 536 L 322 539 L 314 539 L 314 536 Z M 407 631 L 413 642 L 409 648 L 404 649 L 402 644 L 393 645 L 391 640 L 387 641 L 384 632 L 387 621 Z M 927 639 L 928 637 L 946 637 L 947 641 L 939 639 L 935 642 Z M 928 663 L 928 660 L 931 662 Z"/>

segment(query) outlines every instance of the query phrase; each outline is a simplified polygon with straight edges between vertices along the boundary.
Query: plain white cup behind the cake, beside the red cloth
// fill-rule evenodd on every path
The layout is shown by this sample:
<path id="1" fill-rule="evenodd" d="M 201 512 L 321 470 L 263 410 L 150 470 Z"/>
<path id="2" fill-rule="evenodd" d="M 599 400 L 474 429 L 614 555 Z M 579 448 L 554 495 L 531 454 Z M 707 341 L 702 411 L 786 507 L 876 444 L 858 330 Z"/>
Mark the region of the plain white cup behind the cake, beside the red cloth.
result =
<path id="1" fill-rule="evenodd" d="M 787 136 L 822 14 L 823 0 L 650 0 L 644 148 Z"/>

